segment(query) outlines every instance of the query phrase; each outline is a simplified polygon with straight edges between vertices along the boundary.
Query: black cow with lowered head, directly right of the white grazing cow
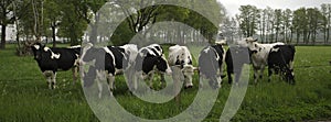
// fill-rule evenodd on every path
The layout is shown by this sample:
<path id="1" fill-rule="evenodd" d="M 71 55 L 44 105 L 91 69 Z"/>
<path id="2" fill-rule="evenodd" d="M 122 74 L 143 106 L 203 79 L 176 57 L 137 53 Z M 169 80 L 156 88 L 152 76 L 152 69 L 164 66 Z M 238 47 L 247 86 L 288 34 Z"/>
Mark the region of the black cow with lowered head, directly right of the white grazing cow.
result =
<path id="1" fill-rule="evenodd" d="M 223 76 L 225 51 L 221 44 L 202 49 L 199 56 L 200 85 L 207 79 L 212 88 L 220 88 Z"/>

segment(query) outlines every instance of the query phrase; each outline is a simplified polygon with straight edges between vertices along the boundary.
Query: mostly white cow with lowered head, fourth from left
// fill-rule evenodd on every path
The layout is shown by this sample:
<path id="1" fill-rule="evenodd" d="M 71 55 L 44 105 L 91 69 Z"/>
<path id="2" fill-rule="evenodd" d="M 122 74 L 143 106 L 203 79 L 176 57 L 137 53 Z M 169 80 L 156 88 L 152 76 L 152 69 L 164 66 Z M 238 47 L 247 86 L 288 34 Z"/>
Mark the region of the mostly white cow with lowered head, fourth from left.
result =
<path id="1" fill-rule="evenodd" d="M 178 82 L 183 82 L 184 88 L 192 88 L 194 67 L 189 48 L 180 45 L 169 47 L 168 62 L 172 70 L 172 79 Z"/>

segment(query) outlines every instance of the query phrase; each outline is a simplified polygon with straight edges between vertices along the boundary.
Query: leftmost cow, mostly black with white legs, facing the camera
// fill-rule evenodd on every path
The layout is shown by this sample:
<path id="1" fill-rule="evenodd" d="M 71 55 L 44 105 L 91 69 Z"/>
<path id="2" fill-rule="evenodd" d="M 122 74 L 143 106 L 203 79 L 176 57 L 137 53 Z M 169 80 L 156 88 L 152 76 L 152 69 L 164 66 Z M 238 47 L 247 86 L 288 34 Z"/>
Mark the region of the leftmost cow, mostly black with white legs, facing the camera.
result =
<path id="1" fill-rule="evenodd" d="M 41 43 L 35 43 L 31 46 L 41 71 L 47 78 L 50 89 L 56 88 L 56 73 L 57 70 L 68 70 L 73 68 L 74 81 L 77 78 L 79 46 L 70 48 L 50 48 Z"/>

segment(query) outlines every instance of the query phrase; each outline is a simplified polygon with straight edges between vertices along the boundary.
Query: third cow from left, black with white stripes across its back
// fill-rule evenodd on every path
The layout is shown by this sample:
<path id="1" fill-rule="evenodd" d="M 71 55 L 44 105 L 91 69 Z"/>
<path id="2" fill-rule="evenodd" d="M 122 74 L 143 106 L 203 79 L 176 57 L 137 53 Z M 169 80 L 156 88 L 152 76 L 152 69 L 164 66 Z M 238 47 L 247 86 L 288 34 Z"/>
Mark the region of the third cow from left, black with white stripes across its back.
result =
<path id="1" fill-rule="evenodd" d="M 135 68 L 136 76 L 142 80 L 148 79 L 150 88 L 152 88 L 152 79 L 156 71 L 161 74 L 161 82 L 164 82 L 162 74 L 172 74 L 168 60 L 163 55 L 163 49 L 159 44 L 151 44 L 140 48 L 136 58 Z M 138 88 L 137 77 L 134 81 L 135 90 Z"/>

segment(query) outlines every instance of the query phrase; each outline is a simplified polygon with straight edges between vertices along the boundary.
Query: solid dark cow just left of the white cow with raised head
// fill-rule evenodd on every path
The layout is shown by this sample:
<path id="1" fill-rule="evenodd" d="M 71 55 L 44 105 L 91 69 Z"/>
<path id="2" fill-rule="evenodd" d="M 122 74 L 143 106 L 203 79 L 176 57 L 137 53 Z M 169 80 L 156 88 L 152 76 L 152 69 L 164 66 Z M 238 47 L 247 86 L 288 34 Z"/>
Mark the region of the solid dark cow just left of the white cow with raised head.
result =
<path id="1" fill-rule="evenodd" d="M 250 54 L 247 47 L 241 45 L 228 47 L 225 55 L 228 84 L 233 82 L 232 74 L 235 76 L 235 82 L 238 84 L 243 66 L 250 63 L 249 56 Z"/>

